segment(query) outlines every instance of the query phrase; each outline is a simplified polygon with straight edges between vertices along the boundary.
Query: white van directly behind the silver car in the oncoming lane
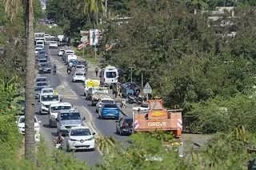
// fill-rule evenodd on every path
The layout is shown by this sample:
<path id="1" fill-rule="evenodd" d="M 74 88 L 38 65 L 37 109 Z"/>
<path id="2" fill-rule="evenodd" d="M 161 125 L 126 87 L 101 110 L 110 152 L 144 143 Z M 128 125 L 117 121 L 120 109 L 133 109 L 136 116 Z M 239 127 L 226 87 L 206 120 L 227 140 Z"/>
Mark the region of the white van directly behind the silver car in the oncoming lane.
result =
<path id="1" fill-rule="evenodd" d="M 59 110 L 69 110 L 72 109 L 72 105 L 69 102 L 59 102 L 59 103 L 52 103 L 49 105 L 49 126 L 54 127 L 57 126 L 57 117 Z"/>

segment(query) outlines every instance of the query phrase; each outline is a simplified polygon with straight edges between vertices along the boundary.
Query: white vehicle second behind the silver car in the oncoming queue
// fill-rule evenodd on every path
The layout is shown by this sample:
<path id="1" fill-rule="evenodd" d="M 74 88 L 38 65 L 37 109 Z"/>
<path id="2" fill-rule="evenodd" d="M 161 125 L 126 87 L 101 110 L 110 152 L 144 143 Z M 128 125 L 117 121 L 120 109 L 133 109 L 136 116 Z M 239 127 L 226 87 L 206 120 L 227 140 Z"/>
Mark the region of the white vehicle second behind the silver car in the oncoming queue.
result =
<path id="1" fill-rule="evenodd" d="M 42 93 L 38 99 L 39 113 L 48 113 L 49 105 L 60 102 L 61 99 L 58 93 Z"/>

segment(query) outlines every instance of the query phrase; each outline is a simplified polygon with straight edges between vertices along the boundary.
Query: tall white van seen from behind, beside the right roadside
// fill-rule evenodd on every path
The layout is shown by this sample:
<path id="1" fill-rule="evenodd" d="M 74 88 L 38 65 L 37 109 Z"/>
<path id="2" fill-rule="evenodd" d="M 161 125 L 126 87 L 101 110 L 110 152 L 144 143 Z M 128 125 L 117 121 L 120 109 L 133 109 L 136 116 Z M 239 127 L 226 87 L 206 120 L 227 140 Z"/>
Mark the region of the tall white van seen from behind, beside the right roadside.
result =
<path id="1" fill-rule="evenodd" d="M 114 85 L 118 83 L 118 69 L 108 65 L 100 73 L 101 85 Z"/>

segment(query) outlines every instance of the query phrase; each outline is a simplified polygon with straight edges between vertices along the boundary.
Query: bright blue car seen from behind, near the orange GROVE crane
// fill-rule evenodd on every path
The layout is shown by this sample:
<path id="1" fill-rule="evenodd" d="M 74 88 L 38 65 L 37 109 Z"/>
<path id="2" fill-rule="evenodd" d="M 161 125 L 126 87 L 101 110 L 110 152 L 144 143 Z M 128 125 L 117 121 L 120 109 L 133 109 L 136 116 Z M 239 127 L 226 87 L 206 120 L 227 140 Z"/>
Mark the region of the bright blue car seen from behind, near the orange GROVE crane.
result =
<path id="1" fill-rule="evenodd" d="M 106 103 L 102 105 L 102 109 L 98 112 L 98 118 L 104 119 L 104 118 L 119 118 L 119 109 L 118 105 L 113 103 Z"/>

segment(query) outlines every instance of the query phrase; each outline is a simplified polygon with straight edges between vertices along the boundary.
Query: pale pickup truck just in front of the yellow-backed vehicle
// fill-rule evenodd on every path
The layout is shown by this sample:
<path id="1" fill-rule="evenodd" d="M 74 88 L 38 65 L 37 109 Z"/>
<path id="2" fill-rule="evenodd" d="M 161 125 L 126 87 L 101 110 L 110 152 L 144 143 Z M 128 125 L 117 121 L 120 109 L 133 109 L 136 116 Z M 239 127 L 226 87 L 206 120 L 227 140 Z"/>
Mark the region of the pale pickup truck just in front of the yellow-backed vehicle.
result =
<path id="1" fill-rule="evenodd" d="M 92 89 L 91 105 L 95 106 L 100 98 L 110 97 L 109 89 L 106 87 L 96 87 Z"/>

